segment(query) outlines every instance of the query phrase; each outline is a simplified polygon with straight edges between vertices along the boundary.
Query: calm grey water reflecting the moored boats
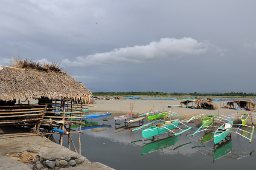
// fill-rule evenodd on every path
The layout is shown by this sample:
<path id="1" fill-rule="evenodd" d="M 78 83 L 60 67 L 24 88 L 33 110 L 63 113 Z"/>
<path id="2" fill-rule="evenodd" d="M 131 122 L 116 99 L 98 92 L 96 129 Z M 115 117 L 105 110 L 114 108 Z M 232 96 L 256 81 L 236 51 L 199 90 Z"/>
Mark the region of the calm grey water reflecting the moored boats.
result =
<path id="1" fill-rule="evenodd" d="M 119 125 L 115 128 L 113 119 L 108 122 L 93 119 L 93 122 L 108 127 L 101 128 L 103 131 L 99 132 L 96 132 L 96 128 L 82 130 L 81 155 L 92 162 L 97 161 L 117 170 L 254 169 L 256 165 L 256 134 L 253 135 L 251 144 L 249 140 L 232 133 L 227 142 L 214 146 L 212 133 L 202 132 L 191 136 L 198 128 L 189 124 L 192 129 L 179 136 L 169 137 L 168 133 L 164 133 L 159 136 L 158 141 L 142 142 L 141 130 L 131 132 L 125 128 L 124 123 L 121 123 L 120 128 L 117 128 Z M 139 126 L 139 122 L 133 126 Z M 63 145 L 67 147 L 67 136 L 65 137 Z M 72 139 L 78 150 L 78 134 L 73 133 Z M 73 148 L 72 144 L 70 147 Z"/>

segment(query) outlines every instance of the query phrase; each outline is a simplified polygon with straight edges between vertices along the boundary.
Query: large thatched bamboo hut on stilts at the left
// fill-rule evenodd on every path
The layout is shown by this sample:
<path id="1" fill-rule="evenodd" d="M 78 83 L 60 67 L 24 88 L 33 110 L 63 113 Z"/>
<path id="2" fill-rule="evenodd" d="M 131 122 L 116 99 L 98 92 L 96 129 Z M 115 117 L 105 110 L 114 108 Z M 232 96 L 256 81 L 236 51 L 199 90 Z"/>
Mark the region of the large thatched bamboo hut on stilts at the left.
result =
<path id="1" fill-rule="evenodd" d="M 92 104 L 91 96 L 56 62 L 40 64 L 14 57 L 11 67 L 0 65 L 0 126 L 15 125 L 35 134 L 53 133 L 46 127 L 64 130 L 81 123 L 68 117 L 82 114 L 83 106 Z"/>

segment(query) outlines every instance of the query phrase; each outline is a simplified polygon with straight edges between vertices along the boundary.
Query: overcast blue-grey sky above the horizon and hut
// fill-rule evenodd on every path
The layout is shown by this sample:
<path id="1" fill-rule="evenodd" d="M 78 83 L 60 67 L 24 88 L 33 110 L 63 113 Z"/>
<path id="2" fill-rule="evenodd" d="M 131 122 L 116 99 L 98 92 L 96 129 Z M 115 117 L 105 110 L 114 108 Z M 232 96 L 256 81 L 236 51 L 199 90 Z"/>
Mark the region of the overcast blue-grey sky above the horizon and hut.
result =
<path id="1" fill-rule="evenodd" d="M 2 0 L 0 65 L 59 61 L 90 91 L 256 93 L 255 0 Z"/>

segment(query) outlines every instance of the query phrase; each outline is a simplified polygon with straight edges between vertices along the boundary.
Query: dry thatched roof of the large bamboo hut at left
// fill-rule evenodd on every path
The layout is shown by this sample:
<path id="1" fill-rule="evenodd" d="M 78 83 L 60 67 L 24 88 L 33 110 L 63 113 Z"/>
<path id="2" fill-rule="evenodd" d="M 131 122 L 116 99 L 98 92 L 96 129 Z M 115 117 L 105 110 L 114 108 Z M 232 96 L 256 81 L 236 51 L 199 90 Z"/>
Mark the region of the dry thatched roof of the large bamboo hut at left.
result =
<path id="1" fill-rule="evenodd" d="M 61 72 L 54 63 L 40 65 L 25 60 L 22 64 L 16 59 L 12 66 L 15 68 L 0 65 L 0 100 L 2 101 L 47 97 L 90 103 L 91 92 L 81 82 Z"/>

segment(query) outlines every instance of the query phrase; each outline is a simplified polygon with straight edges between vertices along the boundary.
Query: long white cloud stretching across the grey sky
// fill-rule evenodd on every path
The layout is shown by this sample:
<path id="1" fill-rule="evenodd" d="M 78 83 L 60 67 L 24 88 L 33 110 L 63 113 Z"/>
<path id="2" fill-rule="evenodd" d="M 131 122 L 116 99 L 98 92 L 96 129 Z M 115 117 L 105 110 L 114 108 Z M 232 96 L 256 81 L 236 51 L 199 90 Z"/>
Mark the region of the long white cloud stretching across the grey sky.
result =
<path id="1" fill-rule="evenodd" d="M 207 42 L 198 42 L 190 37 L 181 39 L 162 38 L 160 41 L 150 42 L 148 45 L 116 48 L 106 53 L 96 53 L 88 56 L 76 57 L 73 61 L 64 59 L 64 66 L 111 65 L 127 62 L 147 62 L 153 60 L 176 59 L 184 56 L 204 54 L 211 49 Z M 218 52 L 218 51 L 216 51 Z"/>

